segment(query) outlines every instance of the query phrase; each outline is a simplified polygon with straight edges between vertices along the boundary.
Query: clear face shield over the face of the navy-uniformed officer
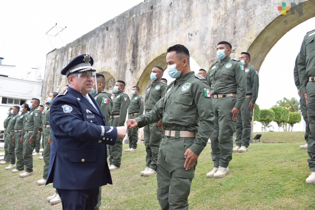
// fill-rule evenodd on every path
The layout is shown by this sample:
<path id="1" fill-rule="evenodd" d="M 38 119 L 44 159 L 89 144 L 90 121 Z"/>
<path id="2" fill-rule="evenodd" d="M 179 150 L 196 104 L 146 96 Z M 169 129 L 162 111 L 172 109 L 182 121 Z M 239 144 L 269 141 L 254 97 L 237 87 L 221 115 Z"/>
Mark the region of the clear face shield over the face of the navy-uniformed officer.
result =
<path id="1" fill-rule="evenodd" d="M 93 88 L 93 84 L 96 84 L 95 71 L 84 71 L 80 73 L 73 73 L 70 76 L 73 77 L 72 86 L 74 87 L 74 89 L 80 92 L 84 96 L 88 94 L 89 92 L 91 92 Z M 97 94 L 97 89 L 94 91 L 94 94 Z"/>

